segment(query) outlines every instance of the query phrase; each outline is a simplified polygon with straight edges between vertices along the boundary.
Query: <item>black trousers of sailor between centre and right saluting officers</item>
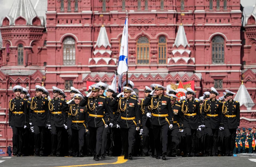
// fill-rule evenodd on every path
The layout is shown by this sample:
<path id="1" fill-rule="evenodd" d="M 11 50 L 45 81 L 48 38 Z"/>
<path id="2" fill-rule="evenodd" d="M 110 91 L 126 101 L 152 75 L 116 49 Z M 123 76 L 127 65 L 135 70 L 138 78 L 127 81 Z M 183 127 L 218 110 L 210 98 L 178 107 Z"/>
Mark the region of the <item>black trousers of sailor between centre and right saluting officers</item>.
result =
<path id="1" fill-rule="evenodd" d="M 143 147 L 142 152 L 145 154 L 155 154 L 153 128 L 143 126 Z"/>

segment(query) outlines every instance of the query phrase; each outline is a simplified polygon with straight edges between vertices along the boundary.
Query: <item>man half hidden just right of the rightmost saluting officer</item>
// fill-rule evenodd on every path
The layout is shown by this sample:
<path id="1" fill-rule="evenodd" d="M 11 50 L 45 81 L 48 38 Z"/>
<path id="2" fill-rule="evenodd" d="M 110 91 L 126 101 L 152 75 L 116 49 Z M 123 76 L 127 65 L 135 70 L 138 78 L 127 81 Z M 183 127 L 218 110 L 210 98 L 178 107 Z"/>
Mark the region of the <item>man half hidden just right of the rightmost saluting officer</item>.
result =
<path id="1" fill-rule="evenodd" d="M 180 150 L 177 149 L 179 145 L 178 140 L 178 131 L 183 132 L 183 113 L 181 112 L 181 105 L 177 104 L 176 99 L 178 98 L 174 94 L 168 95 L 171 99 L 171 106 L 173 111 L 173 127 L 169 130 L 171 140 L 168 140 L 171 145 L 171 157 L 176 157 L 177 154 L 180 153 Z M 169 135 L 168 135 L 169 136 Z"/>

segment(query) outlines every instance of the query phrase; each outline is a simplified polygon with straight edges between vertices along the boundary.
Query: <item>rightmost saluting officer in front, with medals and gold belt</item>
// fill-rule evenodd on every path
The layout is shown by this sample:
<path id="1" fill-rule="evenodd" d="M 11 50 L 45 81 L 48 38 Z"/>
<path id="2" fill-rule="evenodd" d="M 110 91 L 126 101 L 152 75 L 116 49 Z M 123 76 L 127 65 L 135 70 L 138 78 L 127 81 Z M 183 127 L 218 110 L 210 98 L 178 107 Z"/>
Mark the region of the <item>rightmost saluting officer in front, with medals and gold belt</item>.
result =
<path id="1" fill-rule="evenodd" d="M 148 112 L 146 116 L 153 116 L 151 124 L 153 124 L 156 159 L 160 159 L 160 154 L 162 153 L 162 160 L 166 160 L 168 128 L 171 129 L 173 127 L 171 101 L 169 96 L 163 95 L 165 87 L 159 84 L 152 84 L 150 87 L 153 88 L 153 91 L 146 97 L 145 106 L 150 106 L 151 113 Z M 153 96 L 154 93 L 156 96 Z"/>

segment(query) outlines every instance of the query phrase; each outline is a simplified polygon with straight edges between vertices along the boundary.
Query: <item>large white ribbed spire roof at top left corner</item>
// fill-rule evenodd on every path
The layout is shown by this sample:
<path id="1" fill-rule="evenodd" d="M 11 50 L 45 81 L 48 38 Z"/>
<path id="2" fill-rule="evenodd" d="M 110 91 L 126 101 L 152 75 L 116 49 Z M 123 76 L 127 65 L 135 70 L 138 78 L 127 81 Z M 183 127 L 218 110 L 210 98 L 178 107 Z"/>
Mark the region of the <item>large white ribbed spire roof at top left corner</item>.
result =
<path id="1" fill-rule="evenodd" d="M 26 19 L 27 25 L 32 25 L 36 16 L 37 13 L 30 0 L 15 0 L 6 17 L 10 20 L 10 25 L 15 25 L 15 20 L 18 17 L 23 17 Z"/>

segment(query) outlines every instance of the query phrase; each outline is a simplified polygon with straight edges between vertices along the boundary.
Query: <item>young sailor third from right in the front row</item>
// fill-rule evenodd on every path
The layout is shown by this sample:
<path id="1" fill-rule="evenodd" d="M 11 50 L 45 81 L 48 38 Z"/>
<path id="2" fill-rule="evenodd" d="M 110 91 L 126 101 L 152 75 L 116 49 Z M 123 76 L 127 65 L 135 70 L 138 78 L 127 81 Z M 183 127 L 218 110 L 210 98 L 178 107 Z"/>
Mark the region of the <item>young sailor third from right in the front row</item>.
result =
<path id="1" fill-rule="evenodd" d="M 201 124 L 199 101 L 194 99 L 195 92 L 187 88 L 187 100 L 182 101 L 181 111 L 184 114 L 183 128 L 186 132 L 186 157 L 194 156 L 197 128 Z"/>

